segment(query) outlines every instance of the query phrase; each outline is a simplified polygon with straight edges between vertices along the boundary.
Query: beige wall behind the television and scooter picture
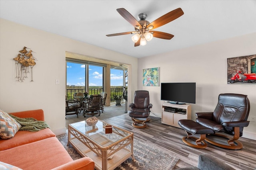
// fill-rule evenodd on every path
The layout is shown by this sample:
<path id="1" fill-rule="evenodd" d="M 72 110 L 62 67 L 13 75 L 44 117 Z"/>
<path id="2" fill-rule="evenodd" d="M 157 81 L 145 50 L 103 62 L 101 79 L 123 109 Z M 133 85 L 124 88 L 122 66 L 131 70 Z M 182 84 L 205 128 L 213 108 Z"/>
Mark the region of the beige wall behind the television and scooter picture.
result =
<path id="1" fill-rule="evenodd" d="M 254 54 L 256 33 L 141 58 L 138 60 L 138 89 L 150 92 L 152 111 L 161 115 L 160 86 L 142 86 L 142 69 L 159 67 L 160 83 L 196 82 L 196 104 L 192 104 L 193 120 L 196 119 L 196 112 L 213 111 L 220 93 L 248 95 L 251 104 L 250 120 L 250 116 L 256 116 L 256 84 L 227 84 L 227 58 Z M 244 128 L 243 137 L 256 140 L 256 122 L 250 122 Z"/>

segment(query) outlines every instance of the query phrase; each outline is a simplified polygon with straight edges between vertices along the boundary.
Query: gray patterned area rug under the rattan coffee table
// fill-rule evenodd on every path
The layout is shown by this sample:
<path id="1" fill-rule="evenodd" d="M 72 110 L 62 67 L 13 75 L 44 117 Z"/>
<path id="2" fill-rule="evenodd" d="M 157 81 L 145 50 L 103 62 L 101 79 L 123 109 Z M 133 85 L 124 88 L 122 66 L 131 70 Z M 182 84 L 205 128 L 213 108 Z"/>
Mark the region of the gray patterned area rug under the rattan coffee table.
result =
<path id="1" fill-rule="evenodd" d="M 82 158 L 72 145 L 67 146 L 68 134 L 57 136 L 57 138 L 73 160 Z M 130 157 L 115 168 L 115 170 L 172 170 L 179 160 L 179 158 L 171 156 L 137 139 L 134 139 L 133 146 L 136 160 L 133 161 Z"/>

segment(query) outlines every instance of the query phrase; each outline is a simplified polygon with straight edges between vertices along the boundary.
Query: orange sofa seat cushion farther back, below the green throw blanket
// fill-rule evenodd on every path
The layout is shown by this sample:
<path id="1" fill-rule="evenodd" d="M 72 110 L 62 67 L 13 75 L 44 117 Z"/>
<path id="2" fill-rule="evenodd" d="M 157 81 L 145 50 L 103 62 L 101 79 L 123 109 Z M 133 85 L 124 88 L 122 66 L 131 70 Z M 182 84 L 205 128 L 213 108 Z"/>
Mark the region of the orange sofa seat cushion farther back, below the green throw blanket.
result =
<path id="1" fill-rule="evenodd" d="M 49 128 L 42 129 L 38 132 L 18 131 L 11 139 L 0 139 L 0 151 L 40 141 L 49 137 L 55 137 L 55 134 Z"/>

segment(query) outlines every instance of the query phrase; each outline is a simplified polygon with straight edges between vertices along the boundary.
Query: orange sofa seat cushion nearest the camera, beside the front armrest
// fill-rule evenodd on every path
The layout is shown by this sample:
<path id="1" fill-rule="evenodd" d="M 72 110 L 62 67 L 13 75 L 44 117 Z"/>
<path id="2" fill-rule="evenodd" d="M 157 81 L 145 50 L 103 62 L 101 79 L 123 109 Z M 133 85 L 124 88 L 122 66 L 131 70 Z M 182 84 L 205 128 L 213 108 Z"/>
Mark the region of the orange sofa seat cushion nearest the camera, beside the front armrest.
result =
<path id="1" fill-rule="evenodd" d="M 0 160 L 26 170 L 53 169 L 73 161 L 56 137 L 2 150 Z"/>

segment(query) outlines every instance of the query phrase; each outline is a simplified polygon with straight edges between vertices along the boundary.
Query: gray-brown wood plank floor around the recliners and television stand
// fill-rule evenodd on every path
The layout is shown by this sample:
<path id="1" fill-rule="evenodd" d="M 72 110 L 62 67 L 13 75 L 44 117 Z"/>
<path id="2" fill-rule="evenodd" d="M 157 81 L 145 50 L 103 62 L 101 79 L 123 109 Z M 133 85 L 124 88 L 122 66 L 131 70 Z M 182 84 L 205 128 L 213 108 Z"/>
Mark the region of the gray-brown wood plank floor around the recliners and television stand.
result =
<path id="1" fill-rule="evenodd" d="M 227 150 L 211 144 L 208 144 L 206 149 L 195 149 L 182 142 L 182 137 L 187 136 L 183 129 L 164 125 L 157 117 L 151 117 L 144 129 L 132 127 L 129 114 L 111 117 L 104 121 L 131 131 L 136 139 L 177 156 L 180 160 L 174 169 L 197 166 L 198 155 L 202 153 L 209 153 L 238 170 L 256 169 L 256 141 L 251 139 L 240 137 L 239 141 L 244 145 L 241 150 Z"/>

